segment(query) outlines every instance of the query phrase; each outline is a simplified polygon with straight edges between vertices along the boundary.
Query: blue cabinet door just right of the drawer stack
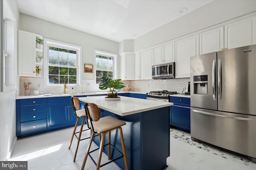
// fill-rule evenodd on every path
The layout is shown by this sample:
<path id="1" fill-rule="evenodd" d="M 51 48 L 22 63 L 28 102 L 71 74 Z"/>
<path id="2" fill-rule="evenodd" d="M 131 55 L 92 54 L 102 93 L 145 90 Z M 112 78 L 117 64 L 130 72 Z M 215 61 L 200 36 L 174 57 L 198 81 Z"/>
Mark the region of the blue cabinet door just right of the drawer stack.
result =
<path id="1" fill-rule="evenodd" d="M 47 129 L 68 126 L 69 103 L 47 105 Z"/>

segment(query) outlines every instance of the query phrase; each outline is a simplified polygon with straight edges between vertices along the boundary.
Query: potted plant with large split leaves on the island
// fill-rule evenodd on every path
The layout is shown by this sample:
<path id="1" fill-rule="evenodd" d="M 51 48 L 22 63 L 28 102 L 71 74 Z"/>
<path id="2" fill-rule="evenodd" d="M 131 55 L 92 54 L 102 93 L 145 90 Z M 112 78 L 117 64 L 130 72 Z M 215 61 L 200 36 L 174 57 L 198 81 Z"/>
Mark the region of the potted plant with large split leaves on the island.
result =
<path id="1" fill-rule="evenodd" d="M 101 90 L 110 89 L 108 91 L 108 97 L 117 97 L 117 92 L 114 89 L 122 89 L 124 86 L 124 83 L 121 82 L 121 79 L 112 80 L 109 77 L 101 77 L 99 88 Z"/>

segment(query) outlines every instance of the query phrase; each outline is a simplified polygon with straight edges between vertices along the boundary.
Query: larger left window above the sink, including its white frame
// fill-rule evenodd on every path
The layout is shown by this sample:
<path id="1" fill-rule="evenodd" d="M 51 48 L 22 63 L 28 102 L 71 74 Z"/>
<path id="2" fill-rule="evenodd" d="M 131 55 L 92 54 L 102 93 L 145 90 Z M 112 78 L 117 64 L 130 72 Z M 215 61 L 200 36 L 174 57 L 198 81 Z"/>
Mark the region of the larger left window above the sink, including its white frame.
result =
<path id="1" fill-rule="evenodd" d="M 53 43 L 44 40 L 47 45 L 47 85 L 79 84 L 78 61 L 80 47 L 66 45 L 66 43 Z"/>

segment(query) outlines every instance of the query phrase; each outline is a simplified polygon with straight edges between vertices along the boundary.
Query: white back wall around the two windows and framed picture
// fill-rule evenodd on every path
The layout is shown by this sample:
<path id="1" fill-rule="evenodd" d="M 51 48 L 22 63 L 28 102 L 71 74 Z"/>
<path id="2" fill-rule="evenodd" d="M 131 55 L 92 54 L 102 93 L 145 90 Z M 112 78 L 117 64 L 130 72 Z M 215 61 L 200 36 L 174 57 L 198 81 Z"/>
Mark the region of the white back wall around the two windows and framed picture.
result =
<path id="1" fill-rule="evenodd" d="M 39 18 L 28 16 L 26 14 L 20 14 L 20 30 L 39 34 L 44 38 L 56 40 L 60 42 L 66 42 L 74 45 L 82 46 L 82 63 L 94 64 L 94 49 L 106 51 L 110 53 L 118 54 L 118 43 L 74 30 L 65 26 L 48 22 Z M 119 69 L 119 68 L 118 68 Z M 86 91 L 100 90 L 94 87 L 94 74 L 95 73 L 83 73 L 81 83 L 85 84 Z M 119 76 L 119 75 L 118 75 Z M 36 85 L 38 78 L 24 78 L 21 77 L 20 82 L 23 83 L 30 79 L 32 85 Z M 39 79 L 41 85 L 43 85 L 43 79 Z M 33 88 L 33 87 L 32 87 Z M 35 87 L 34 87 L 35 88 Z M 42 87 L 44 93 L 62 93 L 62 88 Z M 67 93 L 71 89 L 67 89 Z M 74 91 L 79 92 L 79 87 L 74 87 Z M 20 87 L 20 95 L 24 94 L 24 90 Z"/>

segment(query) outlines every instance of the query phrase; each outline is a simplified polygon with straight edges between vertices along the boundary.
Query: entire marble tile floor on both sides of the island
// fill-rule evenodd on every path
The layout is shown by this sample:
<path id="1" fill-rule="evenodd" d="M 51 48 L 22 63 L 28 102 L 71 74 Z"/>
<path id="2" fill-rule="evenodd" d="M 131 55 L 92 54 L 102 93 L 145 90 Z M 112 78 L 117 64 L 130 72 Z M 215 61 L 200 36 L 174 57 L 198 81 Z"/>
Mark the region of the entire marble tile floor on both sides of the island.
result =
<path id="1" fill-rule="evenodd" d="M 80 142 L 76 162 L 73 162 L 77 140 L 74 138 L 72 147 L 68 150 L 72 130 L 73 128 L 66 128 L 18 139 L 11 160 L 28 161 L 28 170 L 80 170 L 89 140 Z M 89 134 L 84 133 L 84 135 Z M 195 143 L 190 139 L 189 133 L 173 129 L 170 132 L 170 157 L 167 158 L 167 170 L 256 169 L 256 164 L 249 160 L 244 158 L 240 160 L 240 157 L 233 154 L 224 153 L 205 144 Z M 92 146 L 92 148 L 96 147 L 95 144 Z M 92 156 L 97 160 L 98 152 L 94 152 Z M 106 155 L 102 157 L 102 163 L 106 162 Z M 95 169 L 96 166 L 88 158 L 85 170 Z M 114 163 L 110 163 L 100 169 L 119 170 Z"/>

